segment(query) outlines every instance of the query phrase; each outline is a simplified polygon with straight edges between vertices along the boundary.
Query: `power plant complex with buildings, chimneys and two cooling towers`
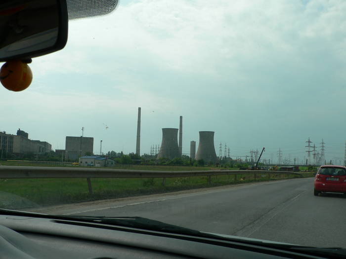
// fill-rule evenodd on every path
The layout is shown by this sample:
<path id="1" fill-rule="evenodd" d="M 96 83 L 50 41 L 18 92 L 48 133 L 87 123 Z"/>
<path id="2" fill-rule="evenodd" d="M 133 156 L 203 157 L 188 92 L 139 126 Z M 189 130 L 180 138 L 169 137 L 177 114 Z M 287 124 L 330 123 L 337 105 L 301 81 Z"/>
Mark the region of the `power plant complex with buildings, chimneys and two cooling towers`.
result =
<path id="1" fill-rule="evenodd" d="M 137 139 L 135 153 L 140 156 L 140 124 L 141 124 L 141 108 L 138 108 L 137 118 Z M 84 127 L 82 128 L 84 132 Z M 82 136 L 66 136 L 65 149 L 55 149 L 56 155 L 65 161 L 78 161 L 80 165 L 93 166 L 111 166 L 113 160 L 107 161 L 103 159 L 102 140 L 100 142 L 100 155 L 93 154 L 94 139 L 92 137 Z M 26 154 L 26 153 L 46 153 L 52 149 L 48 142 L 40 140 L 30 140 L 29 134 L 18 129 L 16 135 L 0 132 L 0 158 L 8 157 L 8 154 Z M 157 154 L 157 155 L 156 155 Z M 162 142 L 158 152 L 153 158 L 156 159 L 174 159 L 182 157 L 182 116 L 179 117 L 179 128 L 163 128 Z M 217 161 L 214 146 L 214 131 L 200 131 L 199 144 L 196 152 L 196 141 L 190 142 L 190 158 L 200 160 L 203 159 L 207 163 Z M 112 162 L 113 161 L 113 162 Z"/>

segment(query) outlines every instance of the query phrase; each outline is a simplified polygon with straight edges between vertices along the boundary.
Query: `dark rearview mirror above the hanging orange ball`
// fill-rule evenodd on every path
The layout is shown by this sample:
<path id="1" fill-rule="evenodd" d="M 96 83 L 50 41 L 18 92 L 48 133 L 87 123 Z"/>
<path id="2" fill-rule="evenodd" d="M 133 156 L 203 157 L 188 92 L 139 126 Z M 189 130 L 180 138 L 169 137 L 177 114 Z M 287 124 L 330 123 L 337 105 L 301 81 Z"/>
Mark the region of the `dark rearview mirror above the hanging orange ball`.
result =
<path id="1" fill-rule="evenodd" d="M 67 30 L 66 0 L 0 0 L 0 61 L 60 50 Z"/>

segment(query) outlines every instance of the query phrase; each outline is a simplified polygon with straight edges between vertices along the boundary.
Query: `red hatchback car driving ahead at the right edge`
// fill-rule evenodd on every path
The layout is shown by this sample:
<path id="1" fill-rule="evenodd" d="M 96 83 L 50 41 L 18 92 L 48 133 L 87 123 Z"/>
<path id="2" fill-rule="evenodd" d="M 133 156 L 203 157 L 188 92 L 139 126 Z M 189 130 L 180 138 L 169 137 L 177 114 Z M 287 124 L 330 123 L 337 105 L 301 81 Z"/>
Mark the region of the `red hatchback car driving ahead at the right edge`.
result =
<path id="1" fill-rule="evenodd" d="M 339 165 L 323 165 L 315 176 L 313 194 L 321 192 L 346 193 L 346 167 Z"/>

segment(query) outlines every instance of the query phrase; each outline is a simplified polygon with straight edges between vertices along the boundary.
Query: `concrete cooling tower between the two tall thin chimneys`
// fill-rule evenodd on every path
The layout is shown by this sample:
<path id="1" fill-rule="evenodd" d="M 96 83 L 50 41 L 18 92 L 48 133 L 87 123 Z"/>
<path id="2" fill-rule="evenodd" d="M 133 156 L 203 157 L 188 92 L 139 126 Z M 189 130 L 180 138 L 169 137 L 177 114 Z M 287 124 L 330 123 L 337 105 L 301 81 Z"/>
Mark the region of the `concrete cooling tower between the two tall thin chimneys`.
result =
<path id="1" fill-rule="evenodd" d="M 173 159 L 174 157 L 180 157 L 178 147 L 178 129 L 163 128 L 162 143 L 157 158 Z"/>

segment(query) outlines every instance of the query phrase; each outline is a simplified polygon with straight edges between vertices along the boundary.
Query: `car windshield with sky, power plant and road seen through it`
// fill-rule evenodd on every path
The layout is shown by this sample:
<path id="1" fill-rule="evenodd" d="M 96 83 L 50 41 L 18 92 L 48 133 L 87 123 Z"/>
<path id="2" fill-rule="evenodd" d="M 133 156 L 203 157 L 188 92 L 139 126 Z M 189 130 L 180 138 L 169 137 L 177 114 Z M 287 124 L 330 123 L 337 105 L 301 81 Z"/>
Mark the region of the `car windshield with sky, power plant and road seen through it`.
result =
<path id="1" fill-rule="evenodd" d="M 314 182 L 345 165 L 345 14 L 122 0 L 70 20 L 26 90 L 0 87 L 0 207 L 346 247 L 346 182 Z"/>

